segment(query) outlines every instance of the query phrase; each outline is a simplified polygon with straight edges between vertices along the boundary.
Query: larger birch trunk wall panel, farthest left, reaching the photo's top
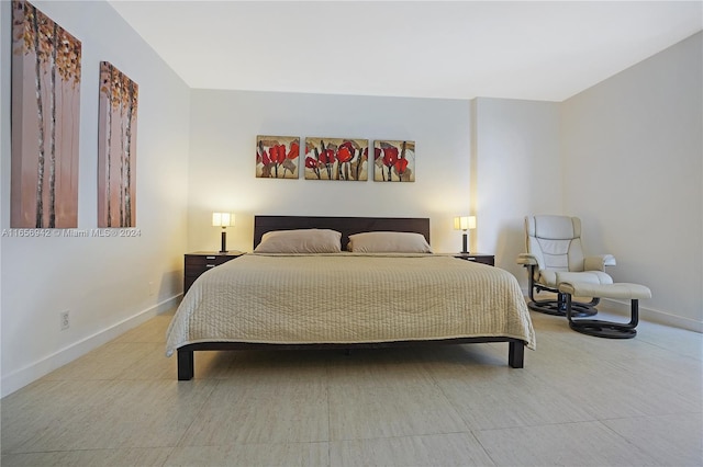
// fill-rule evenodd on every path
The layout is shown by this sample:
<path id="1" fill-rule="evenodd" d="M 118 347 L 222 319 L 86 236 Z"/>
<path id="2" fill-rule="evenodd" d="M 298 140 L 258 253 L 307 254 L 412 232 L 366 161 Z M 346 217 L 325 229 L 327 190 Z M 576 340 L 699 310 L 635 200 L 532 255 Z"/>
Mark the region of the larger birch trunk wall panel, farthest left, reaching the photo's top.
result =
<path id="1" fill-rule="evenodd" d="M 80 58 L 80 41 L 12 2 L 12 228 L 78 227 Z"/>

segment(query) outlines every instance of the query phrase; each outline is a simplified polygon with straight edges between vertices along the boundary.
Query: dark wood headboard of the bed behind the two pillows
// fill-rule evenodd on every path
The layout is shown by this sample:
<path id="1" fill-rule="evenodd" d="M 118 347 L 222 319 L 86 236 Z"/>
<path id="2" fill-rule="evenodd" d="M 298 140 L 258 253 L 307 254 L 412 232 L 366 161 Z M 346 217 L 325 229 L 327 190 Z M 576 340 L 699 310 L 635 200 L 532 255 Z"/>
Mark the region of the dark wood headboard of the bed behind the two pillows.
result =
<path id="1" fill-rule="evenodd" d="M 422 234 L 429 243 L 429 218 L 426 217 L 322 217 L 322 216 L 254 216 L 254 248 L 261 236 L 272 230 L 333 229 L 342 232 L 342 250 L 349 236 L 371 231 Z"/>

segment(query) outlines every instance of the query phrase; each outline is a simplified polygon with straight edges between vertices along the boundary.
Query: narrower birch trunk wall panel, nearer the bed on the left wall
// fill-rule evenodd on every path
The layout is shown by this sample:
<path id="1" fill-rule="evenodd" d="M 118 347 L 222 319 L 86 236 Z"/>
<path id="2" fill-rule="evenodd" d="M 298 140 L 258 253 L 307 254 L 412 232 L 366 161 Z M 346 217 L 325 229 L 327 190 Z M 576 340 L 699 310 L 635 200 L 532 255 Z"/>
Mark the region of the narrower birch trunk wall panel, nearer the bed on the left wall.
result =
<path id="1" fill-rule="evenodd" d="M 98 116 L 98 227 L 136 225 L 136 115 L 138 87 L 100 62 Z"/>

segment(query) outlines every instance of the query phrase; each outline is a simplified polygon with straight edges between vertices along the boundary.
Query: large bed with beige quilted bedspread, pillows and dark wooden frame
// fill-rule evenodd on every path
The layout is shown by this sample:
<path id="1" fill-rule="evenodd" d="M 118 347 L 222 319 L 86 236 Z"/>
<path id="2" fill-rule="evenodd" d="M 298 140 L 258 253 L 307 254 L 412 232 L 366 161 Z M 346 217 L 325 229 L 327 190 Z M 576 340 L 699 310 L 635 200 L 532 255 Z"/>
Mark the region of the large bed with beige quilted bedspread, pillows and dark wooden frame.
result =
<path id="1" fill-rule="evenodd" d="M 263 248 L 303 232 L 338 251 Z M 507 342 L 509 365 L 522 368 L 536 344 L 515 277 L 415 251 L 417 238 L 428 248 L 429 219 L 255 216 L 254 253 L 202 274 L 171 320 L 166 354 L 178 355 L 178 379 L 193 377 L 196 351 L 244 349 Z"/>

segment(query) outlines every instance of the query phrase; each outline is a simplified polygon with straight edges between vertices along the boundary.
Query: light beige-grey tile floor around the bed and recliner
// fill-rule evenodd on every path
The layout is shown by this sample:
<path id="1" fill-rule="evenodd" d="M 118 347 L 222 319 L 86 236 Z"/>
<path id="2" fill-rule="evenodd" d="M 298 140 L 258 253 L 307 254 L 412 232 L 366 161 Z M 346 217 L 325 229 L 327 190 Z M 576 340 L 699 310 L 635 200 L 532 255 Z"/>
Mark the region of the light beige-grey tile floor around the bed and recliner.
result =
<path id="1" fill-rule="evenodd" d="M 695 332 L 606 340 L 533 314 L 523 369 L 498 343 L 211 352 L 179 383 L 169 320 L 2 399 L 2 466 L 703 465 Z"/>

